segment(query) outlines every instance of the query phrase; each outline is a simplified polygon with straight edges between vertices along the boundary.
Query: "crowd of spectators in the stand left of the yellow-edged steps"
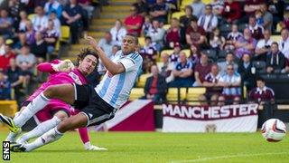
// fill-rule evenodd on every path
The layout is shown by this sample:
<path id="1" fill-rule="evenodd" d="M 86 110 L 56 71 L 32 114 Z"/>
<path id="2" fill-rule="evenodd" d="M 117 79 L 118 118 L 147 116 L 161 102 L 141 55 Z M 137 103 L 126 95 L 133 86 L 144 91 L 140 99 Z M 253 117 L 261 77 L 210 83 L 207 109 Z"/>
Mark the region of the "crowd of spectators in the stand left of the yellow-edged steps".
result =
<path id="1" fill-rule="evenodd" d="M 77 43 L 93 11 L 90 0 L 0 1 L 0 100 L 27 95 L 40 77 L 35 65 L 57 54 L 61 25 L 70 26 L 70 42 Z"/>

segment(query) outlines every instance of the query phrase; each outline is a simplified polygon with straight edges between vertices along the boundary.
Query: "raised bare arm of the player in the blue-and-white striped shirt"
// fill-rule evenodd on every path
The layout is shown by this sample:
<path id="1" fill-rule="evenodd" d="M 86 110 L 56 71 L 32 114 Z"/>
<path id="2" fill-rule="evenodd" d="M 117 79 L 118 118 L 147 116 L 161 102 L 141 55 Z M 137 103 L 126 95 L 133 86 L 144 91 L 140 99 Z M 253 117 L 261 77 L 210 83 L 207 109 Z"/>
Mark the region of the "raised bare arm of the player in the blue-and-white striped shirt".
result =
<path id="1" fill-rule="evenodd" d="M 97 51 L 98 57 L 101 60 L 102 64 L 106 67 L 107 71 L 110 72 L 112 75 L 116 75 L 122 72 L 125 72 L 125 66 L 121 63 L 112 62 L 106 55 L 106 53 L 103 52 L 103 50 L 98 47 L 98 43 L 95 39 L 88 36 L 87 38 L 89 40 L 90 45 Z"/>

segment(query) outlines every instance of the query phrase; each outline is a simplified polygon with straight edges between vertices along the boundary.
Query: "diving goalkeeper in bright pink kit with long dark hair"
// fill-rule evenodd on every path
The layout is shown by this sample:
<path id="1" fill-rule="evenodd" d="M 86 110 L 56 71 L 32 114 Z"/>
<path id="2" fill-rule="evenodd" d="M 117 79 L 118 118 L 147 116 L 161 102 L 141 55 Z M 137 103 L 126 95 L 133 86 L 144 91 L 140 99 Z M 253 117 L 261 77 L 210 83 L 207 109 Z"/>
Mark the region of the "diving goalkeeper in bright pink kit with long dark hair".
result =
<path id="1" fill-rule="evenodd" d="M 40 72 L 49 72 L 50 76 L 47 82 L 44 82 L 42 86 L 34 91 L 33 95 L 31 95 L 26 101 L 23 102 L 22 110 L 25 110 L 25 107 L 33 101 L 35 97 L 37 97 L 42 91 L 44 91 L 47 87 L 55 84 L 64 84 L 64 83 L 77 83 L 79 85 L 87 84 L 88 81 L 86 76 L 89 73 L 93 72 L 95 67 L 98 64 L 98 56 L 96 53 L 89 51 L 88 49 L 84 50 L 82 53 L 79 53 L 78 56 L 78 68 L 74 68 L 74 65 L 70 61 L 60 61 L 55 60 L 53 62 L 43 62 L 37 66 L 38 71 Z M 35 113 L 34 120 L 38 124 L 36 128 L 31 130 L 28 133 L 23 134 L 19 139 L 16 140 L 17 143 L 24 143 L 29 139 L 33 139 L 41 136 L 46 131 L 57 126 L 62 120 L 67 119 L 70 115 L 76 115 L 79 113 L 79 110 L 73 109 L 69 104 L 59 101 L 52 100 L 49 102 L 43 110 Z M 24 116 L 26 120 L 17 120 L 18 116 Z M 23 127 L 25 122 L 29 120 L 31 116 L 23 115 L 22 111 L 16 114 L 14 117 L 15 125 L 18 127 Z M 9 119 L 5 119 L 5 116 L 0 116 L 0 120 L 8 123 L 9 127 Z M 7 124 L 6 123 L 6 124 Z M 93 146 L 89 142 L 89 134 L 87 128 L 80 128 L 79 136 L 84 144 L 84 148 L 87 150 L 105 150 L 104 148 L 98 148 Z M 16 133 L 10 132 L 7 139 L 8 141 L 14 142 L 15 138 L 21 133 L 21 130 Z"/>

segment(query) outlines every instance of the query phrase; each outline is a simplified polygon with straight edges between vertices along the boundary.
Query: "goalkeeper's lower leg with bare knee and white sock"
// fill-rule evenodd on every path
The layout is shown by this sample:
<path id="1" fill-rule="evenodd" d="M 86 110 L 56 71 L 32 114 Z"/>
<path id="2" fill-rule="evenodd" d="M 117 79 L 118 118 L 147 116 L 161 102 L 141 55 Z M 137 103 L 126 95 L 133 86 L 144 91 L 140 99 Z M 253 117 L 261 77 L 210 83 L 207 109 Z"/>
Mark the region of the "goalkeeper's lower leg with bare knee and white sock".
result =
<path id="1" fill-rule="evenodd" d="M 69 118 L 69 115 L 64 110 L 58 110 L 51 120 L 46 120 L 42 123 L 40 123 L 36 128 L 33 130 L 23 134 L 19 139 L 16 140 L 17 143 L 22 144 L 25 141 L 28 141 L 29 139 L 33 139 L 39 136 L 42 136 L 45 132 L 47 132 L 50 129 L 53 129 L 55 126 L 57 126 L 61 121 L 66 120 Z"/>

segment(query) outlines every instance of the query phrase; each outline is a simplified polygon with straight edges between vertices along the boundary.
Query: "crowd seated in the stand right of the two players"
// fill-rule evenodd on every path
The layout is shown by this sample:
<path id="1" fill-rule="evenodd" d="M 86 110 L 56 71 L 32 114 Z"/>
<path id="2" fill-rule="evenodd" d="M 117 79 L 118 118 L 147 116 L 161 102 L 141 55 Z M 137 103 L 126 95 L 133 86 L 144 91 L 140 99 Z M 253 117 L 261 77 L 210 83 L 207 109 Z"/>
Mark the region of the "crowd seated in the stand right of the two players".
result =
<path id="1" fill-rule="evenodd" d="M 289 72 L 289 12 L 284 1 L 214 0 L 205 5 L 192 0 L 183 9 L 177 3 L 137 0 L 124 24 L 117 20 L 111 30 L 112 42 L 120 43 L 126 33 L 144 37 L 139 51 L 144 58 L 143 72 L 153 74 L 145 83 L 144 98 L 165 100 L 168 87 L 203 86 L 209 89 L 200 101 L 238 103 L 242 84 L 254 94 L 259 74 Z M 169 18 L 173 12 L 183 15 Z M 277 26 L 282 28 L 279 34 Z M 281 36 L 273 39 L 272 34 Z M 266 87 L 257 90 L 261 89 Z M 274 99 L 274 92 L 267 94 L 272 96 L 263 99 Z"/>

